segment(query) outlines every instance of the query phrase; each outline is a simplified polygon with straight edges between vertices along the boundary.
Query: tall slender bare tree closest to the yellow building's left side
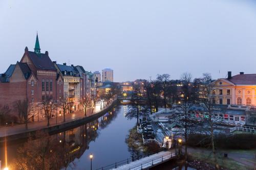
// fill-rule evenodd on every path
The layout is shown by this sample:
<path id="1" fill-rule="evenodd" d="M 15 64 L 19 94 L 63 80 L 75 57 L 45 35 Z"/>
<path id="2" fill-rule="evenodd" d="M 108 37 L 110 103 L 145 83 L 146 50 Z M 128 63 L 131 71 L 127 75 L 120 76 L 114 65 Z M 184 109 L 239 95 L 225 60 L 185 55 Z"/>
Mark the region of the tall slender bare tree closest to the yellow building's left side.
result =
<path id="1" fill-rule="evenodd" d="M 211 75 L 208 73 L 203 74 L 202 83 L 205 85 L 205 87 L 203 90 L 203 97 L 201 98 L 201 102 L 204 104 L 204 106 L 207 109 L 207 112 L 205 114 L 208 115 L 207 123 L 209 124 L 209 127 L 210 127 L 212 154 L 214 156 L 215 168 L 219 169 L 217 155 L 216 155 L 216 148 L 215 148 L 215 136 L 214 136 L 215 121 L 214 121 L 214 110 L 213 110 L 214 103 L 212 102 L 214 99 L 212 96 L 213 85 L 211 84 Z"/>

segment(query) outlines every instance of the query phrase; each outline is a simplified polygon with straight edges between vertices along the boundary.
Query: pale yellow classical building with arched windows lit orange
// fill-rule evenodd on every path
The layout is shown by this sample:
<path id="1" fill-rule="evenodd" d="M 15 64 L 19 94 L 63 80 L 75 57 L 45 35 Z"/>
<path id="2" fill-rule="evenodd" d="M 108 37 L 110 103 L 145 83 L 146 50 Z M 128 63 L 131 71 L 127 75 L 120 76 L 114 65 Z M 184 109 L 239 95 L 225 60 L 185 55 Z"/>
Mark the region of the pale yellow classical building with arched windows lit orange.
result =
<path id="1" fill-rule="evenodd" d="M 218 79 L 211 84 L 213 104 L 256 106 L 256 74 L 240 72 L 232 77 L 228 71 L 227 79 Z"/>

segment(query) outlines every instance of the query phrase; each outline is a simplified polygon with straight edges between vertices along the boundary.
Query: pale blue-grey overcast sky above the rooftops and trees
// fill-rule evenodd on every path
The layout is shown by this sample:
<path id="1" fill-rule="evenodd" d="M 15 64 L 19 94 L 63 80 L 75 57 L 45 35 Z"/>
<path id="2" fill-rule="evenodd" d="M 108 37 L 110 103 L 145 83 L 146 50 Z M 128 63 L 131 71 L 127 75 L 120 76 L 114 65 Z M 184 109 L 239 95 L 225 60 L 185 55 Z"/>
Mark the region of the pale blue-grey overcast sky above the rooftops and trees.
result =
<path id="1" fill-rule="evenodd" d="M 33 51 L 114 81 L 256 73 L 256 1 L 0 1 L 0 72 Z"/>

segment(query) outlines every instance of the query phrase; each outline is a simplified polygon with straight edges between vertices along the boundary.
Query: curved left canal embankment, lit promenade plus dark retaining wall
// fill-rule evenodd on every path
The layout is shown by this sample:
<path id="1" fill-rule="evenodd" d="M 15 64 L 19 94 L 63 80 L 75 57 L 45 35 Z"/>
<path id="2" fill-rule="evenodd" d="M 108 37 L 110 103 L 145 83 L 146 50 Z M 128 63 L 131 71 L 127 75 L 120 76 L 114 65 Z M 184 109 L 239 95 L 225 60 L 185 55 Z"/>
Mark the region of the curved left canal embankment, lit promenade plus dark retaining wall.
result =
<path id="1" fill-rule="evenodd" d="M 112 101 L 108 106 L 104 107 L 101 111 L 94 111 L 87 117 L 84 117 L 83 111 L 77 113 L 67 114 L 66 122 L 63 122 L 63 118 L 59 119 L 52 118 L 50 121 L 50 126 L 46 126 L 47 121 L 33 122 L 29 123 L 28 129 L 25 128 L 25 125 L 9 126 L 0 129 L 0 142 L 17 140 L 28 138 L 33 136 L 36 131 L 44 131 L 48 133 L 57 133 L 59 131 L 68 130 L 71 128 L 78 127 L 84 123 L 91 122 L 94 119 L 102 116 L 105 112 L 109 111 L 114 105 L 117 104 L 117 99 Z"/>

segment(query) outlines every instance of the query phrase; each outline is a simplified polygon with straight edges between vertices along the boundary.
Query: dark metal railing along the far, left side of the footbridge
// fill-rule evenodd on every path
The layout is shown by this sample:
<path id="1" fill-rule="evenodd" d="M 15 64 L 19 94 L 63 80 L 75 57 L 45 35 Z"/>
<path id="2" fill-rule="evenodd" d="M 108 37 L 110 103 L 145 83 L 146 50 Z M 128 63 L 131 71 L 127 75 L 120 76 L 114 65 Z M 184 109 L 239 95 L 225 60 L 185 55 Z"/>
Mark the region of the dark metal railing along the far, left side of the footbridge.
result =
<path id="1" fill-rule="evenodd" d="M 124 164 L 129 164 L 133 161 L 145 158 L 145 157 L 150 156 L 150 155 L 154 155 L 154 154 L 159 153 L 161 151 L 163 151 L 163 149 L 157 149 L 155 152 L 153 152 L 151 154 L 133 156 L 131 158 L 127 158 L 127 159 L 124 159 L 124 160 L 121 160 L 121 161 L 118 161 L 118 162 L 115 162 L 115 163 L 112 163 L 112 164 L 109 164 L 109 165 L 106 165 L 106 166 L 102 166 L 102 167 L 97 168 L 95 170 L 109 170 L 109 169 L 117 168 L 118 166 L 121 166 L 121 165 L 124 165 Z"/>

